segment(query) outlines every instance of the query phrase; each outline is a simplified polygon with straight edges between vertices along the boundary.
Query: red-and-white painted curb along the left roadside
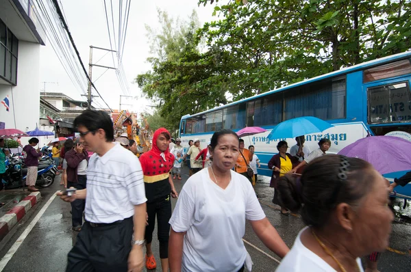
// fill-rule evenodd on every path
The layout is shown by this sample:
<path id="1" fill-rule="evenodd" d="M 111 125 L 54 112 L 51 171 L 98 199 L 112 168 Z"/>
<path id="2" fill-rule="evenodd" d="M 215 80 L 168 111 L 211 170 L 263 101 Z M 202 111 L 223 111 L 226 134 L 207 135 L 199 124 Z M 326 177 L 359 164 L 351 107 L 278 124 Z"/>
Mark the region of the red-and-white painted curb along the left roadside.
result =
<path id="1" fill-rule="evenodd" d="M 41 193 L 30 193 L 21 202 L 18 202 L 11 210 L 0 218 L 0 241 L 12 230 L 24 215 L 40 200 Z"/>

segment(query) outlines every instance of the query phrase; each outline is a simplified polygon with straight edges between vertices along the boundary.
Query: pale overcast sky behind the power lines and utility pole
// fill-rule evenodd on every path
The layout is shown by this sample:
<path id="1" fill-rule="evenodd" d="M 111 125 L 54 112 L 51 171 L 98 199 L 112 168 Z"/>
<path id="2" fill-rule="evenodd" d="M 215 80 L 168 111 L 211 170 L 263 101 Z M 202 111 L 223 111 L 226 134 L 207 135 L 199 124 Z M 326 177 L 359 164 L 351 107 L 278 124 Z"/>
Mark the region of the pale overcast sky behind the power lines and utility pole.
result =
<path id="1" fill-rule="evenodd" d="M 110 48 L 103 0 L 61 0 L 61 3 L 77 49 L 88 70 L 89 46 Z M 110 1 L 106 0 L 106 3 L 110 3 Z M 118 0 L 113 0 L 113 3 L 118 3 Z M 125 1 L 123 1 L 123 3 L 125 3 Z M 116 5 L 116 7 L 118 7 L 118 5 Z M 184 19 L 188 18 L 192 10 L 196 10 L 201 25 L 206 21 L 213 20 L 212 10 L 214 7 L 210 5 L 206 7 L 201 5 L 198 7 L 197 0 L 132 1 L 123 53 L 123 66 L 133 96 L 141 96 L 138 86 L 132 83 L 133 79 L 137 74 L 150 69 L 150 65 L 146 62 L 147 57 L 149 57 L 149 41 L 147 40 L 145 25 L 159 27 L 157 8 L 168 12 L 173 18 L 179 16 Z M 114 8 L 114 10 L 116 9 Z M 114 25 L 116 25 L 116 23 Z M 105 51 L 93 49 L 93 62 L 97 62 L 104 54 Z M 111 55 L 105 55 L 98 64 L 113 66 Z M 95 79 L 104 71 L 104 68 L 94 67 L 92 70 L 93 82 L 95 82 Z M 58 85 L 47 83 L 47 92 L 63 92 L 73 99 L 86 100 L 85 97 L 80 96 L 80 91 L 73 85 L 64 68 L 62 68 L 49 42 L 41 48 L 40 81 L 58 82 Z M 105 72 L 105 74 L 95 82 L 95 86 L 112 109 L 119 109 L 119 99 L 122 93 L 114 70 Z M 43 89 L 43 87 L 42 84 L 41 88 Z M 125 98 L 122 98 L 122 103 L 125 103 L 124 100 Z M 98 102 L 103 105 L 101 100 L 98 99 Z M 140 113 L 144 107 L 149 109 L 147 105 L 149 105 L 150 102 L 140 99 L 134 100 L 133 104 L 132 107 L 122 105 L 121 108 L 125 109 L 128 107 L 130 110 Z"/>

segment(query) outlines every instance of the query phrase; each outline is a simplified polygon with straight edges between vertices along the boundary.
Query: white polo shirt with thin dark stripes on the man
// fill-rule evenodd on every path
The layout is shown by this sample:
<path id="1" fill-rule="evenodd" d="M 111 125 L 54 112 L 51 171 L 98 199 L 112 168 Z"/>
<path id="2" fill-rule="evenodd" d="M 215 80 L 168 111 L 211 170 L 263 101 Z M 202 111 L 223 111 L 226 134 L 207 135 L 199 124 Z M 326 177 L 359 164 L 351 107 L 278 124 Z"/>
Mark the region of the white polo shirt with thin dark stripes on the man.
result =
<path id="1" fill-rule="evenodd" d="M 92 154 L 87 169 L 86 221 L 112 223 L 134 215 L 147 202 L 140 161 L 115 144 L 103 157 Z"/>

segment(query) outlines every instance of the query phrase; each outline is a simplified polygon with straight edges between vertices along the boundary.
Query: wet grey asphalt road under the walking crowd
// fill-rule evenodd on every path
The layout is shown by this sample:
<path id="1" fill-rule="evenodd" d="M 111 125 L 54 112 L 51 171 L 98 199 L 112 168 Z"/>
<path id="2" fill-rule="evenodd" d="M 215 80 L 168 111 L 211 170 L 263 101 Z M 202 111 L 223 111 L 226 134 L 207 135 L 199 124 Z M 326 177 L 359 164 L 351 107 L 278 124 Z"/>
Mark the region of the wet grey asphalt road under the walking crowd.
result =
<path id="1" fill-rule="evenodd" d="M 184 169 L 186 170 L 186 169 Z M 186 171 L 183 170 L 183 173 Z M 180 191 L 184 180 L 187 176 L 183 175 L 183 180 L 175 181 L 177 191 Z M 266 182 L 266 178 L 262 182 Z M 27 225 L 36 217 L 39 210 L 47 203 L 51 196 L 62 189 L 59 185 L 60 177 L 56 177 L 55 182 L 51 187 L 41 189 L 42 200 L 32 211 L 26 215 L 21 222 L 16 226 L 16 233 L 12 234 L 10 241 L 0 249 L 0 257 L 9 251 L 10 247 L 24 232 Z M 273 189 L 266 183 L 258 183 L 256 192 L 259 195 L 260 203 L 273 226 L 279 232 L 279 235 L 284 239 L 286 244 L 291 247 L 299 230 L 304 224 L 299 215 L 284 216 L 279 213 L 279 206 L 272 204 Z M 175 206 L 173 200 L 173 207 Z M 62 202 L 60 198 L 55 198 L 45 213 L 38 219 L 34 228 L 29 232 L 27 238 L 21 243 L 16 253 L 10 258 L 10 261 L 5 265 L 3 271 L 65 271 L 66 256 L 77 236 L 76 232 L 71 230 L 71 206 L 68 203 Z M 155 258 L 158 261 L 158 269 L 153 271 L 161 271 L 160 258 L 158 256 L 158 241 L 156 239 L 157 230 L 153 233 L 153 251 Z M 274 271 L 277 267 L 276 260 L 280 260 L 278 256 L 267 249 L 258 239 L 256 234 L 251 229 L 249 223 L 246 226 L 246 234 L 244 237 L 247 251 L 253 260 L 253 271 Z M 408 248 L 411 246 L 411 224 L 409 223 L 394 223 L 393 234 L 390 239 L 390 249 L 382 254 L 379 260 L 379 271 L 411 271 L 411 257 L 408 254 Z M 269 256 L 266 256 L 261 251 L 264 251 Z M 275 260 L 273 260 L 275 258 Z M 1 269 L 0 269 L 1 271 Z M 144 270 L 145 271 L 145 270 Z"/>

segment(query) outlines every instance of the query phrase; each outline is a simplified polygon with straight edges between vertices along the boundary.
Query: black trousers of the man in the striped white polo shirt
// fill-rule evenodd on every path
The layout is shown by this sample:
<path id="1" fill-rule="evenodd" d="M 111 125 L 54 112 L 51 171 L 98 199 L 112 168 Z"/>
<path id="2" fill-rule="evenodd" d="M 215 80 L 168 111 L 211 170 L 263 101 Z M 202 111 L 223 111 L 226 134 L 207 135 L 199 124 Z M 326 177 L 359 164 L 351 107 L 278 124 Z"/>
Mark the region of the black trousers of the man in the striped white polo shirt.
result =
<path id="1" fill-rule="evenodd" d="M 133 217 L 92 227 L 86 221 L 69 252 L 66 272 L 127 271 Z"/>

